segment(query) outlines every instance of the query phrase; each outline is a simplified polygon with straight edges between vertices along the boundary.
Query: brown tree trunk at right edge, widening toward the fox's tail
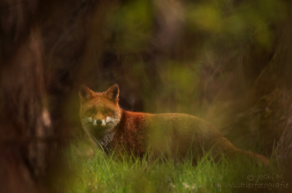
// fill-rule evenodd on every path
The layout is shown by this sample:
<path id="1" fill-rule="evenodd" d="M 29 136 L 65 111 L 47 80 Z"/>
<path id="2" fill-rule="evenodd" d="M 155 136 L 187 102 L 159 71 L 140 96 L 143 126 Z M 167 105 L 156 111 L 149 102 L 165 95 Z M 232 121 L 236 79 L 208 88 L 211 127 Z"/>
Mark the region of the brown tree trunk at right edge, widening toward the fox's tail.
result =
<path id="1" fill-rule="evenodd" d="M 250 138 L 259 140 L 262 152 L 291 162 L 292 156 L 292 22 L 286 21 L 274 56 L 261 71 L 243 100 L 236 103 L 236 115 L 223 128 L 228 135 L 239 131 L 241 125 L 250 129 Z M 232 137 L 231 137 L 232 138 Z M 274 148 L 274 149 L 273 149 Z"/>

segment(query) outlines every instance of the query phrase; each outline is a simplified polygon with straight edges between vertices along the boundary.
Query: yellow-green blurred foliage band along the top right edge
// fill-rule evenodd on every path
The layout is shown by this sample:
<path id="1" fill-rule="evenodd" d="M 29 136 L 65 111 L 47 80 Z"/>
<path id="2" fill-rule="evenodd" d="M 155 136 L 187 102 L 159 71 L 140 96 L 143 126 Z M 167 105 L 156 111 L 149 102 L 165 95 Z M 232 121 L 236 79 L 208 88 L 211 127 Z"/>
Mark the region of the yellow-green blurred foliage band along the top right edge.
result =
<path id="1" fill-rule="evenodd" d="M 220 34 L 231 41 L 248 37 L 261 49 L 270 49 L 274 40 L 273 24 L 285 19 L 286 1 L 208 1 L 189 3 L 187 26 L 193 31 Z"/>

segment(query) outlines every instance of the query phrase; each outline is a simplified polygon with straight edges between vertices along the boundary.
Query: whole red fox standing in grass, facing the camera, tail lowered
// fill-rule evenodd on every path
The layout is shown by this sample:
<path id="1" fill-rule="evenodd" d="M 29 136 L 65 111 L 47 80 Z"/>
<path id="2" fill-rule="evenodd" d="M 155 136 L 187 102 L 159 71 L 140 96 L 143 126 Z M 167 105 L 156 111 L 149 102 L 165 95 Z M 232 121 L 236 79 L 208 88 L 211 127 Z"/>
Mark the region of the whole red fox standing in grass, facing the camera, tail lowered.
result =
<path id="1" fill-rule="evenodd" d="M 212 124 L 192 115 L 122 110 L 118 85 L 105 92 L 93 92 L 83 85 L 79 97 L 82 127 L 107 154 L 124 152 L 142 157 L 149 148 L 154 159 L 164 153 L 183 160 L 191 148 L 200 154 L 210 151 L 215 160 L 223 155 L 247 154 L 265 165 L 269 163 L 264 156 L 236 148 Z"/>

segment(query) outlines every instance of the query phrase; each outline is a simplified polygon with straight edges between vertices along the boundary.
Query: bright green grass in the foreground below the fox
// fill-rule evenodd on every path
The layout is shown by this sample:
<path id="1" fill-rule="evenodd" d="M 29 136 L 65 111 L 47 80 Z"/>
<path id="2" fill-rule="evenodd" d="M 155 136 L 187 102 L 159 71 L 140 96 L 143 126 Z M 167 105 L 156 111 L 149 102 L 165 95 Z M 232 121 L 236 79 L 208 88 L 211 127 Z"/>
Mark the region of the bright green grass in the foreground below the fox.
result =
<path id="1" fill-rule="evenodd" d="M 71 173 L 67 192 L 291 192 L 292 187 L 273 160 L 269 167 L 244 157 L 218 163 L 203 158 L 195 167 L 191 161 L 120 161 L 84 140 L 71 142 L 65 154 Z"/>

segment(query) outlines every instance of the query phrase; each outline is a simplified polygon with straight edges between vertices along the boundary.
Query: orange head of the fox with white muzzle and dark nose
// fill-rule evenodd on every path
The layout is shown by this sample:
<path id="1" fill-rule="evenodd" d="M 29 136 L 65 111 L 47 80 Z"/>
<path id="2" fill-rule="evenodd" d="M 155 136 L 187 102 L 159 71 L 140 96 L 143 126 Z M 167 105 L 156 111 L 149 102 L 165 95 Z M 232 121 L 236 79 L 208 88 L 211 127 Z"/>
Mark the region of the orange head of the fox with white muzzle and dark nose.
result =
<path id="1" fill-rule="evenodd" d="M 93 92 L 87 86 L 82 85 L 79 97 L 80 119 L 87 132 L 94 136 L 109 132 L 117 126 L 121 119 L 118 85 L 109 87 L 105 92 Z"/>

